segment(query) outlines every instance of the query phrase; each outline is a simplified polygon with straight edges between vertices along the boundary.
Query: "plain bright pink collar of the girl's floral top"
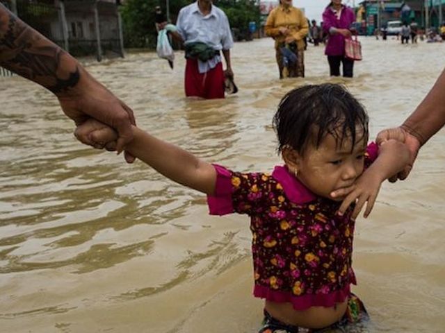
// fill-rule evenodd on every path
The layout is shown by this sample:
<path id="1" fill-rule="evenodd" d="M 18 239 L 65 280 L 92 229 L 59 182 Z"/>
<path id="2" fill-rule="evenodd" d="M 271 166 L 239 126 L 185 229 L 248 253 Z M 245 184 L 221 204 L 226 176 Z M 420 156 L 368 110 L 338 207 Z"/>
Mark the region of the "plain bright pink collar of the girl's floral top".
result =
<path id="1" fill-rule="evenodd" d="M 285 165 L 277 165 L 275 169 L 273 169 L 272 176 L 280 182 L 287 198 L 293 203 L 301 205 L 303 203 L 309 203 L 309 201 L 316 198 L 316 195 L 313 194 L 312 191 L 309 191 L 305 185 L 302 185 L 300 180 L 295 178 Z"/>

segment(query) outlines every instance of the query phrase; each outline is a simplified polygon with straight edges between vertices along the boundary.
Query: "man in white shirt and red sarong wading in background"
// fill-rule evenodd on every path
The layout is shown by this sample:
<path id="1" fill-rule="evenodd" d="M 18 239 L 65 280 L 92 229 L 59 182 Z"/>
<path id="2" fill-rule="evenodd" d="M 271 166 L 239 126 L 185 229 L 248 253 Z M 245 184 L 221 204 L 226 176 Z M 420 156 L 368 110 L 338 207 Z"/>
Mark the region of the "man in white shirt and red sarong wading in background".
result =
<path id="1" fill-rule="evenodd" d="M 230 49 L 234 42 L 229 20 L 211 0 L 181 8 L 173 37 L 186 46 L 186 96 L 223 99 L 225 77 L 233 78 Z M 220 51 L 225 58 L 223 71 Z"/>

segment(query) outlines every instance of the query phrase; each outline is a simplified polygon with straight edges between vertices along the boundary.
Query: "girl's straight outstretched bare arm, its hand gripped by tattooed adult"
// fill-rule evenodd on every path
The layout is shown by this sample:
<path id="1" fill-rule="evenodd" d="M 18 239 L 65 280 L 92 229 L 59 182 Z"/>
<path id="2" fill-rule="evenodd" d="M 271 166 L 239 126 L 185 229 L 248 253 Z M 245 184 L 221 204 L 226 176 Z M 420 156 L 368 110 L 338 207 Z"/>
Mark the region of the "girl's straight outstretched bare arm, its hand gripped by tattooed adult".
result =
<path id="1" fill-rule="evenodd" d="M 133 140 L 126 146 L 134 157 L 145 162 L 163 176 L 181 185 L 214 194 L 216 185 L 215 168 L 200 160 L 192 153 L 149 135 L 144 130 L 132 126 Z M 90 119 L 76 128 L 78 139 L 86 138 L 95 142 L 95 148 L 115 150 L 115 131 L 94 119 Z"/>

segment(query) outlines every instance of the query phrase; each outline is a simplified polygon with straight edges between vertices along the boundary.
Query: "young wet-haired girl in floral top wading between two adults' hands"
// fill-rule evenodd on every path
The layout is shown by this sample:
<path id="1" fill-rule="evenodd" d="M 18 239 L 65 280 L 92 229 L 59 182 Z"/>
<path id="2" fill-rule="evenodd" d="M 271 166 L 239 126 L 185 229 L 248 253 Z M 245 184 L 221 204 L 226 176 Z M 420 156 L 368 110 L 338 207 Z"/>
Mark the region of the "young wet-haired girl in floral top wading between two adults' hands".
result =
<path id="1" fill-rule="evenodd" d="M 250 216 L 254 296 L 266 300 L 259 332 L 318 332 L 367 318 L 350 292 L 352 208 L 337 214 L 343 198 L 330 194 L 356 182 L 347 199 L 372 206 L 382 181 L 407 164 L 407 148 L 394 140 L 366 146 L 366 112 L 339 85 L 293 89 L 280 102 L 274 125 L 284 165 L 271 174 L 204 162 L 136 127 L 127 149 L 164 176 L 207 194 L 210 214 Z M 115 147 L 113 130 L 97 121 L 80 126 L 76 136 Z"/>

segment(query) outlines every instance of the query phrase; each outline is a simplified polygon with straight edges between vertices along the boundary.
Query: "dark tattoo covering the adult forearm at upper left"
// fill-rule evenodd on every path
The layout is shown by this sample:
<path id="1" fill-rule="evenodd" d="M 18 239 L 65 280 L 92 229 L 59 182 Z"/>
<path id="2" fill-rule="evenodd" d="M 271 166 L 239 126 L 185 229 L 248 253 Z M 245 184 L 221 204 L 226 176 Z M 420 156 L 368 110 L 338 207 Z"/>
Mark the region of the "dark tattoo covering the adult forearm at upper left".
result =
<path id="1" fill-rule="evenodd" d="M 80 78 L 79 67 L 60 70 L 63 49 L 0 4 L 0 66 L 51 90 L 65 92 Z M 63 76 L 60 77 L 60 76 Z"/>

